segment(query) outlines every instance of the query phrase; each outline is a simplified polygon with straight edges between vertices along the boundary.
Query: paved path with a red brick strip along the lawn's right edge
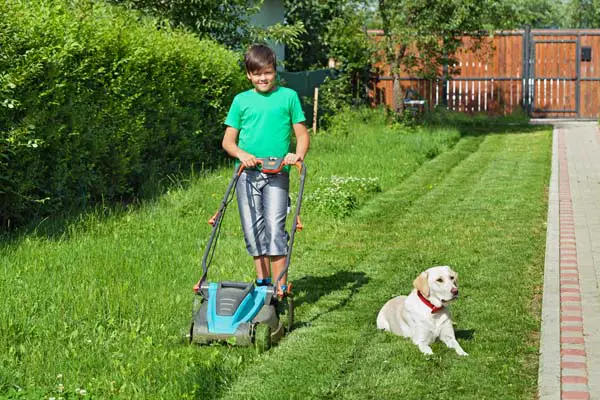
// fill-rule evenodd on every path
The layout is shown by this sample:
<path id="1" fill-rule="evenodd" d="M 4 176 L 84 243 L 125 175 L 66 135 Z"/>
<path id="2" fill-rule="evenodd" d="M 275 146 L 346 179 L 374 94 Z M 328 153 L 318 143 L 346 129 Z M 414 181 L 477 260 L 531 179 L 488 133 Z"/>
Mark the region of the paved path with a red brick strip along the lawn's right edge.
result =
<path id="1" fill-rule="evenodd" d="M 600 399 L 600 130 L 554 123 L 539 398 Z"/>

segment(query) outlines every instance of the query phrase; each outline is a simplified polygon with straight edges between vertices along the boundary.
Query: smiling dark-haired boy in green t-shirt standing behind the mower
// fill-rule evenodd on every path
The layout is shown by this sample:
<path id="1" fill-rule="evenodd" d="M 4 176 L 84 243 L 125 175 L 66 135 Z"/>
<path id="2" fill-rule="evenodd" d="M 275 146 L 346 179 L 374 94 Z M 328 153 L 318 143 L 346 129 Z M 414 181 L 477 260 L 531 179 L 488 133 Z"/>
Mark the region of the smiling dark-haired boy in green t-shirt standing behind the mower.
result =
<path id="1" fill-rule="evenodd" d="M 276 85 L 276 58 L 269 47 L 252 45 L 245 56 L 246 76 L 254 89 L 238 94 L 225 120 L 223 149 L 244 165 L 236 185 L 246 249 L 254 258 L 256 282 L 268 285 L 285 268 L 288 252 L 285 221 L 288 207 L 289 168 L 265 174 L 257 158 L 284 158 L 285 164 L 304 160 L 310 137 L 298 94 Z M 295 153 L 289 152 L 291 133 Z M 287 276 L 278 282 L 277 293 L 287 289 Z"/>

